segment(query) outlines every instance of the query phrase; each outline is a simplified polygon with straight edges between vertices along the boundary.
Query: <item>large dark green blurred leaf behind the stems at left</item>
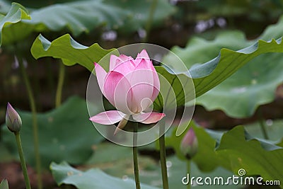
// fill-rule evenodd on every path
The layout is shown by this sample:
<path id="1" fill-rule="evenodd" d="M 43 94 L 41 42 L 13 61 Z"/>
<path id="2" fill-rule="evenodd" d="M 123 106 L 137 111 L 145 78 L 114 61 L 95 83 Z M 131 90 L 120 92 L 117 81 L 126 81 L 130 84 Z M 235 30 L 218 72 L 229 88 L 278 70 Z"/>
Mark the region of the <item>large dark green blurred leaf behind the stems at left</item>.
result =
<path id="1" fill-rule="evenodd" d="M 22 111 L 19 114 L 23 121 L 20 134 L 25 160 L 35 166 L 32 115 Z M 91 156 L 92 145 L 104 138 L 88 118 L 86 101 L 78 97 L 69 98 L 62 106 L 48 113 L 37 114 L 40 156 L 45 168 L 51 161 L 82 164 Z M 1 137 L 6 147 L 18 156 L 15 137 L 6 127 L 3 127 Z"/>

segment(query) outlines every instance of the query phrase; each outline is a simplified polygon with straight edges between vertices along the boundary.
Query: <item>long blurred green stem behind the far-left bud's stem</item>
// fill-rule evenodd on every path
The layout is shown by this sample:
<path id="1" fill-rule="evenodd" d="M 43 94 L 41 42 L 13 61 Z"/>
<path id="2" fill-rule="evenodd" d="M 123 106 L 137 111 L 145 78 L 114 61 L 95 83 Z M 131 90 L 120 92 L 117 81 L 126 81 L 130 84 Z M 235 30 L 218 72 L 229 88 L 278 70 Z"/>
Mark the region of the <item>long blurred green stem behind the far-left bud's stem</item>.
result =
<path id="1" fill-rule="evenodd" d="M 40 160 L 40 152 L 39 152 L 39 139 L 38 139 L 38 127 L 37 127 L 37 113 L 35 106 L 35 98 L 33 96 L 33 90 L 30 86 L 30 81 L 28 80 L 28 74 L 25 71 L 25 67 L 23 66 L 22 59 L 19 59 L 19 65 L 21 68 L 21 72 L 23 75 L 23 80 L 25 82 L 25 87 L 28 91 L 28 98 L 30 100 L 30 108 L 32 111 L 33 118 L 33 142 L 35 148 L 35 164 L 36 164 L 36 172 L 37 172 L 37 185 L 38 189 L 42 189 L 42 176 L 41 176 L 41 160 Z"/>

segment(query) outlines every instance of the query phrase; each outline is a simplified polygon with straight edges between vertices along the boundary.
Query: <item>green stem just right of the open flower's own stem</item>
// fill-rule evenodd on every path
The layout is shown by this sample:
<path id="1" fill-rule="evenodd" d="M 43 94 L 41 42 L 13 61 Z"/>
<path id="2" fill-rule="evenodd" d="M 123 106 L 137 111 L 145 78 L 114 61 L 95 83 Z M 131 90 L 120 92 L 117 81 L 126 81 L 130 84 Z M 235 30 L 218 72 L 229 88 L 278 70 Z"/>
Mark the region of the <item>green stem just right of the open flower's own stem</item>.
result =
<path id="1" fill-rule="evenodd" d="M 168 189 L 168 175 L 167 175 L 167 166 L 166 166 L 166 148 L 165 148 L 165 128 L 160 126 L 159 133 L 163 133 L 159 138 L 159 149 L 160 149 L 160 164 L 161 164 L 161 173 L 162 173 L 162 183 L 163 189 Z"/>

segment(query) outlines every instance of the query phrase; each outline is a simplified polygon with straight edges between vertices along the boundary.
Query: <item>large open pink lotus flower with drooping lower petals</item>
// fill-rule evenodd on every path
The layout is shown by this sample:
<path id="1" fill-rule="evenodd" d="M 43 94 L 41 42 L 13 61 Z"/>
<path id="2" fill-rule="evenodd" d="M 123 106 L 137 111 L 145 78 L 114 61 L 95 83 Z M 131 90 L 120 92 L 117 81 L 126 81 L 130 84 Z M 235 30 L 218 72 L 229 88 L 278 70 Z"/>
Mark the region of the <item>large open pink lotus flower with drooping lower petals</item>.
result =
<path id="1" fill-rule="evenodd" d="M 122 129 L 130 115 L 145 124 L 158 122 L 165 116 L 150 110 L 158 96 L 160 82 L 146 50 L 142 50 L 136 59 L 111 55 L 108 72 L 97 63 L 95 69 L 100 90 L 117 110 L 99 113 L 91 117 L 91 121 L 103 125 L 120 122 L 117 128 Z"/>

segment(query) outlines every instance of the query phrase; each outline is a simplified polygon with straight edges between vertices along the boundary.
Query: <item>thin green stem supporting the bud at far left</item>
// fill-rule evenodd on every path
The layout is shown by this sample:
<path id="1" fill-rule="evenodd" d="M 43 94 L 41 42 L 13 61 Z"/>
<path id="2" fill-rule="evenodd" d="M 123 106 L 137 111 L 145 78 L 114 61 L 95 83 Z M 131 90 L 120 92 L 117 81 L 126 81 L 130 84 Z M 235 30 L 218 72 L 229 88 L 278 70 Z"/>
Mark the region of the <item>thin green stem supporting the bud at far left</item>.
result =
<path id="1" fill-rule="evenodd" d="M 17 143 L 17 147 L 18 147 L 18 155 L 20 156 L 21 166 L 22 166 L 22 169 L 23 169 L 23 177 L 25 178 L 25 187 L 27 189 L 31 189 L 30 179 L 28 178 L 28 170 L 25 166 L 25 157 L 23 156 L 23 148 L 22 148 L 22 144 L 21 144 L 20 132 L 15 132 L 14 134 L 15 134 L 15 137 L 16 137 L 16 143 Z"/>

